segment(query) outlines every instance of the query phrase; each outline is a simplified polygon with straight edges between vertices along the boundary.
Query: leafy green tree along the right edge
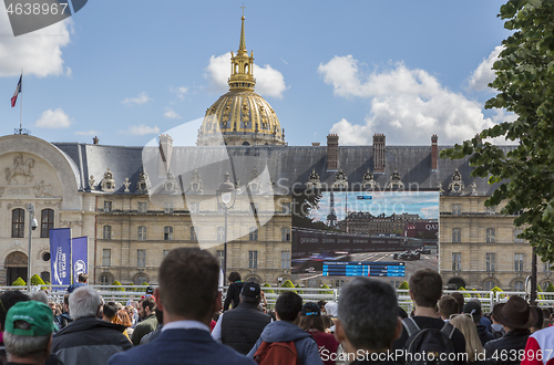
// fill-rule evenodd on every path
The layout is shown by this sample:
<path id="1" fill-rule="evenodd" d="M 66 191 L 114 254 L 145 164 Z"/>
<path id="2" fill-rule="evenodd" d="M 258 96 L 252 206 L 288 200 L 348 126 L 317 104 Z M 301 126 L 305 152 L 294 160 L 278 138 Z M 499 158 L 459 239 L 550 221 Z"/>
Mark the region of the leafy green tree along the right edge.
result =
<path id="1" fill-rule="evenodd" d="M 441 157 L 470 156 L 472 177 L 499 184 L 485 206 L 506 201 L 505 215 L 521 215 L 519 238 L 530 240 L 543 261 L 554 260 L 554 2 L 510 0 L 500 9 L 504 28 L 514 33 L 502 42 L 494 63 L 499 93 L 485 108 L 505 108 L 517 119 L 482 131 L 475 138 L 441 152 Z M 506 149 L 483 142 L 505 137 L 519 142 Z"/>

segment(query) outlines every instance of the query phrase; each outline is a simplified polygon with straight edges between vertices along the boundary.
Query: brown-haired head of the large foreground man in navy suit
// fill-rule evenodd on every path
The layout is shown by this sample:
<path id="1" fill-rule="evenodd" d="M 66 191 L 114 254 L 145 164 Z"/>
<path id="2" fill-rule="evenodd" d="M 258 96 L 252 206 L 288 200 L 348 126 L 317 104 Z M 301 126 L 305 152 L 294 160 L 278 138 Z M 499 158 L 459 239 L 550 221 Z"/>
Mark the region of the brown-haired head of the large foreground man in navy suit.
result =
<path id="1" fill-rule="evenodd" d="M 187 319 L 209 325 L 222 307 L 219 264 L 207 251 L 178 248 L 160 267 L 160 286 L 154 291 L 164 311 L 164 323 Z"/>

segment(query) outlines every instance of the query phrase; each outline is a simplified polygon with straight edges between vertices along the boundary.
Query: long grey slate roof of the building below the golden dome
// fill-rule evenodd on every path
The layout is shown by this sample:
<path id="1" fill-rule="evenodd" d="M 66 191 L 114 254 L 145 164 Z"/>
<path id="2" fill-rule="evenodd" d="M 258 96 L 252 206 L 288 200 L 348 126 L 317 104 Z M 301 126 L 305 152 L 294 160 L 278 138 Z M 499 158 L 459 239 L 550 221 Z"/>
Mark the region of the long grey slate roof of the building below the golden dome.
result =
<path id="1" fill-rule="evenodd" d="M 150 147 L 143 152 L 143 147 L 78 143 L 54 145 L 74 161 L 82 177 L 81 189 L 90 188 L 88 185 L 91 175 L 94 176 L 98 187 L 107 168 L 113 173 L 115 194 L 136 192 L 136 182 L 143 169 L 148 173 L 155 188 L 166 179 L 160 167 L 158 148 Z M 445 148 L 449 146 L 439 146 L 439 152 Z M 504 152 L 513 149 L 512 146 L 502 148 Z M 254 168 L 261 173 L 266 166 L 269 179 L 275 184 L 276 194 L 288 194 L 289 188 L 304 189 L 312 169 L 320 176 L 324 186 L 331 186 L 337 174 L 337 170 L 327 170 L 326 146 L 174 147 L 170 169 L 177 180 L 181 180 L 184 190 L 188 189 L 192 174 L 197 170 L 202 176 L 204 194 L 213 194 L 222 182 L 225 171 L 232 174 L 232 180 L 239 180 L 240 185 L 245 185 L 250 181 Z M 347 175 L 349 186 L 352 182 L 362 182 L 368 168 L 373 170 L 372 146 L 339 147 L 339 169 Z M 472 168 L 469 166 L 469 157 L 456 160 L 439 158 L 438 169 L 431 169 L 431 146 L 387 146 L 386 170 L 375 174 L 375 181 L 383 189 L 390 176 L 398 171 L 404 189 L 437 190 L 440 181 L 444 195 L 455 195 L 448 190 L 455 169 L 460 171 L 465 185 L 462 195 L 490 196 L 496 188 L 489 185 L 486 179 L 470 178 Z M 130 192 L 124 192 L 125 178 L 131 182 Z M 476 188 L 472 194 L 473 181 Z"/>

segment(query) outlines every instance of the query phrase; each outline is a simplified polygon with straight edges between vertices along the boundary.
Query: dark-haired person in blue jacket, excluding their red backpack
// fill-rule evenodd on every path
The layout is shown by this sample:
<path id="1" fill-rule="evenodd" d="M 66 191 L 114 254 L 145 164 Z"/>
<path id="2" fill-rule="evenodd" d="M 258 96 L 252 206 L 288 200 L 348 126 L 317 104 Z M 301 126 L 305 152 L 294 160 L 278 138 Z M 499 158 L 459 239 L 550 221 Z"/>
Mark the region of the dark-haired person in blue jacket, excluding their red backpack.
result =
<path id="1" fill-rule="evenodd" d="M 295 324 L 302 310 L 302 299 L 294 292 L 285 292 L 277 298 L 275 314 L 277 321 L 269 323 L 261 332 L 259 340 L 248 353 L 254 358 L 256 351 L 265 343 L 294 342 L 300 365 L 321 364 L 317 343 L 309 333 Z M 227 315 L 227 314 L 225 314 Z"/>

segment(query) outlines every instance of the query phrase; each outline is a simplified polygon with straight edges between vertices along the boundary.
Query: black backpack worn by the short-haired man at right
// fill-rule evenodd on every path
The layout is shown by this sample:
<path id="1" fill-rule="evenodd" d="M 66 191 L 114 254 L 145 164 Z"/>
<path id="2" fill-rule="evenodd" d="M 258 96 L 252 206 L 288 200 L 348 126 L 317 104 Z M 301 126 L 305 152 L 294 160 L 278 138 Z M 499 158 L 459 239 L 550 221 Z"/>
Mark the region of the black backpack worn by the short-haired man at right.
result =
<path id="1" fill-rule="evenodd" d="M 441 330 L 421 330 L 412 317 L 402 320 L 408 332 L 404 345 L 406 364 L 409 365 L 452 365 L 456 359 L 452 335 L 455 327 L 444 322 Z"/>

